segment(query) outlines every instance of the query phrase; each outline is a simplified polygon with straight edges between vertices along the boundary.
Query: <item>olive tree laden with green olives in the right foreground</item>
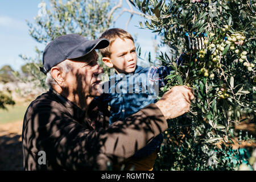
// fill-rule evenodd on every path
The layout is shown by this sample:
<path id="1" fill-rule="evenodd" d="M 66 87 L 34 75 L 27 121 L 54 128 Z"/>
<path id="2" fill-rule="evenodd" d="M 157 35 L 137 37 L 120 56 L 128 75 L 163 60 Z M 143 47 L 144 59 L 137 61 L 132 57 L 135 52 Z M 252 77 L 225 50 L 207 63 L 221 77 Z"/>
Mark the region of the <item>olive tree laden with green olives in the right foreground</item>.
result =
<path id="1" fill-rule="evenodd" d="M 246 163 L 251 148 L 241 155 L 230 144 L 255 146 L 255 135 L 234 130 L 246 118 L 255 124 L 255 1 L 131 2 L 150 17 L 141 27 L 158 32 L 170 47 L 159 56 L 174 69 L 163 93 L 186 84 L 196 96 L 188 114 L 168 121 L 155 169 L 222 170 Z M 187 59 L 176 65 L 172 57 L 183 51 Z"/>

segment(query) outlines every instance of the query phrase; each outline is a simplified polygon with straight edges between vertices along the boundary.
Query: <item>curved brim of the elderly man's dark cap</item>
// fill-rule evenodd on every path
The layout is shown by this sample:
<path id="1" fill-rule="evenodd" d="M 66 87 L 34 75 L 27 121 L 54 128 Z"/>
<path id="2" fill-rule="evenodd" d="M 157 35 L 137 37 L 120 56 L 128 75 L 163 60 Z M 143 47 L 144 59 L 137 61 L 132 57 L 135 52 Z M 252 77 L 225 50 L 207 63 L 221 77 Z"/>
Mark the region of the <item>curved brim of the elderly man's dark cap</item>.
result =
<path id="1" fill-rule="evenodd" d="M 103 49 L 109 46 L 108 39 L 97 39 L 97 40 L 88 40 L 79 46 L 77 46 L 71 55 L 67 59 L 76 59 L 82 56 L 87 55 L 92 52 L 94 49 Z"/>

